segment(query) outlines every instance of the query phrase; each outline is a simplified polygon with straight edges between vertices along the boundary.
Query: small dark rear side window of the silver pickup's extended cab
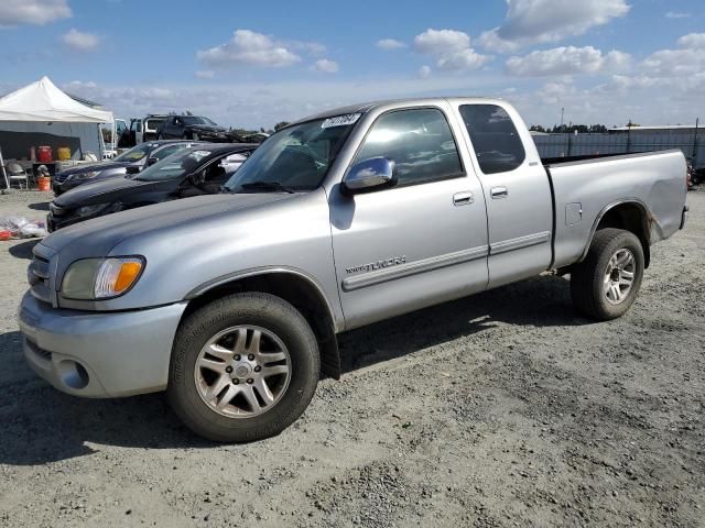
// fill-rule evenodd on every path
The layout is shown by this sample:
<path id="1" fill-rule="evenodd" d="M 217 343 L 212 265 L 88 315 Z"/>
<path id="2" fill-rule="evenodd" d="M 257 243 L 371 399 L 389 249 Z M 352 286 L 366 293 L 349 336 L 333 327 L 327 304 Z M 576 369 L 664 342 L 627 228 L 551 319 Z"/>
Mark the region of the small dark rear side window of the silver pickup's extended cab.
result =
<path id="1" fill-rule="evenodd" d="M 497 105 L 464 105 L 460 116 L 482 173 L 507 173 L 524 162 L 524 145 L 503 108 Z"/>

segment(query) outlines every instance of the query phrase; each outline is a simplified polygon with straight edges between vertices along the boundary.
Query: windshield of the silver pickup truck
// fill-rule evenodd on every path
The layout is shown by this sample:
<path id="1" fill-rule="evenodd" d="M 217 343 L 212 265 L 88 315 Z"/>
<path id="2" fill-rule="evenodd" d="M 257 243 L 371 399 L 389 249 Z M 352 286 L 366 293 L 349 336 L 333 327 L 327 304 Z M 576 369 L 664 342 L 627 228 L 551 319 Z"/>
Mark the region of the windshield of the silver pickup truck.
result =
<path id="1" fill-rule="evenodd" d="M 232 193 L 317 188 L 359 114 L 317 119 L 280 130 L 228 180 Z"/>

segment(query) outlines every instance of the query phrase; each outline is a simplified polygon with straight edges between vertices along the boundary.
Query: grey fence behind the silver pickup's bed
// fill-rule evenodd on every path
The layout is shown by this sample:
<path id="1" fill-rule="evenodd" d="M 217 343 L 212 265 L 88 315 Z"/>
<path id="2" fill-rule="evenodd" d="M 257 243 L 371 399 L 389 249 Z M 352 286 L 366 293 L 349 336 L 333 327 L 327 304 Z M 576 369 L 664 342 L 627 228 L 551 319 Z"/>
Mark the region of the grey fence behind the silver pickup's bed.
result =
<path id="1" fill-rule="evenodd" d="M 697 132 L 639 131 L 612 134 L 534 135 L 541 157 L 630 154 L 680 148 L 695 168 L 705 168 L 705 138 Z"/>

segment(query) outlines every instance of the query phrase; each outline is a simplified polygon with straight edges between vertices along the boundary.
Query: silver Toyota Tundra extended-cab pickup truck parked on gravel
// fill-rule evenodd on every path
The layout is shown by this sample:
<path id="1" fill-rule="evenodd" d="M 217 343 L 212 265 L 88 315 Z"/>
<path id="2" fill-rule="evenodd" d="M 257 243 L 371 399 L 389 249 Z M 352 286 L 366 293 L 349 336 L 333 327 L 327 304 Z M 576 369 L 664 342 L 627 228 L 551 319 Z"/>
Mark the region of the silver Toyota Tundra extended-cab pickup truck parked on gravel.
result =
<path id="1" fill-rule="evenodd" d="M 268 139 L 220 195 L 119 212 L 34 248 L 24 354 L 59 391 L 166 389 L 217 441 L 304 411 L 336 334 L 544 272 L 625 314 L 686 219 L 680 151 L 540 160 L 502 100 L 372 102 Z M 525 307 L 517 307 L 517 310 Z"/>

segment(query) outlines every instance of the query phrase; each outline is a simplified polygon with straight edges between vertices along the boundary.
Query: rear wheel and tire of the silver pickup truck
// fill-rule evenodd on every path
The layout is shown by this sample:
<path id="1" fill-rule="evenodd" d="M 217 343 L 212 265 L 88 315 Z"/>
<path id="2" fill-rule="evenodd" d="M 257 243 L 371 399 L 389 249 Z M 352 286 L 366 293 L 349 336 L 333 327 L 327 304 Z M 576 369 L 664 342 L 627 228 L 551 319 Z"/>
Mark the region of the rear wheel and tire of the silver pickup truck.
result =
<path id="1" fill-rule="evenodd" d="M 627 285 L 630 273 L 631 283 Z M 595 233 L 585 261 L 571 272 L 573 306 L 600 321 L 616 319 L 633 304 L 642 278 L 639 239 L 621 229 L 601 229 Z"/>

